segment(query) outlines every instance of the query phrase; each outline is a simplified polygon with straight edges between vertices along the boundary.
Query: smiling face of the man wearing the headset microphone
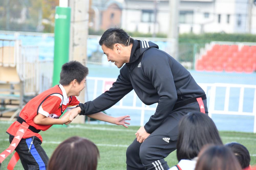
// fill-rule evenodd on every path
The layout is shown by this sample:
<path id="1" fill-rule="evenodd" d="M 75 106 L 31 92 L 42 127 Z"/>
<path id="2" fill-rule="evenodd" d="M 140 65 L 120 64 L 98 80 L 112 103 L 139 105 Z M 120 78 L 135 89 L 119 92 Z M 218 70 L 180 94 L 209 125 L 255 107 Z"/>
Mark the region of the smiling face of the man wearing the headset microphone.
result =
<path id="1" fill-rule="evenodd" d="M 125 63 L 124 59 L 120 55 L 120 45 L 114 45 L 113 49 L 106 47 L 104 44 L 101 46 L 103 53 L 106 54 L 108 58 L 108 61 L 114 63 L 118 68 L 121 68 Z"/>

